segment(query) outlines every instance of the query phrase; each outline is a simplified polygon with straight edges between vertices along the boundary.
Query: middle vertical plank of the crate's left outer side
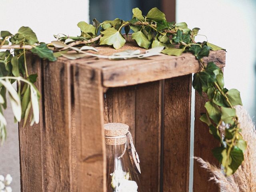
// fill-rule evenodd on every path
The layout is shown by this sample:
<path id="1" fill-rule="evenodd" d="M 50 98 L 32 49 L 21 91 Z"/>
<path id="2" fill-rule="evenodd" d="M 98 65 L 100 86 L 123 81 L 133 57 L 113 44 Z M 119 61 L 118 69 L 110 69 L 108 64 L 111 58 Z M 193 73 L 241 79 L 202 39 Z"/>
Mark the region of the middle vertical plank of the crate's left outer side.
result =
<path id="1" fill-rule="evenodd" d="M 44 62 L 44 187 L 73 191 L 70 65 Z"/>

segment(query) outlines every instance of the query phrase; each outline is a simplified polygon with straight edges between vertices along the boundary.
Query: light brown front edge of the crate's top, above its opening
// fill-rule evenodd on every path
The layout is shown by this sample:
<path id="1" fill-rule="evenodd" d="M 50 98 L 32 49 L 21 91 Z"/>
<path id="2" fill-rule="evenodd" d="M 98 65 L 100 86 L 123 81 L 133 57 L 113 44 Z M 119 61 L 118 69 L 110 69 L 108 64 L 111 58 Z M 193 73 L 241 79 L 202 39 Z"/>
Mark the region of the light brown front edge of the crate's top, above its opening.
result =
<path id="1" fill-rule="evenodd" d="M 214 61 L 217 66 L 224 67 L 224 50 L 210 52 L 207 60 Z M 98 64 L 100 60 L 96 63 Z M 101 60 L 102 62 L 102 60 Z M 181 56 L 154 56 L 145 60 L 104 61 L 102 67 L 103 85 L 105 87 L 128 86 L 192 74 L 200 70 L 195 57 L 190 53 Z M 109 66 L 107 66 L 109 65 Z"/>

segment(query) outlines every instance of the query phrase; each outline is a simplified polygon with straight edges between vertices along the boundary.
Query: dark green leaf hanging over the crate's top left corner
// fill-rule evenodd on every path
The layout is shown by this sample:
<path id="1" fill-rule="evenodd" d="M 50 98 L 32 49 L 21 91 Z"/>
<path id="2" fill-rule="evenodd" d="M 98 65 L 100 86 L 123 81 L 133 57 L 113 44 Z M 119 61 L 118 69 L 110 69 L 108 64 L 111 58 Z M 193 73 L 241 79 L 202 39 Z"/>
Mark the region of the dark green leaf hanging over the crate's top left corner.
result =
<path id="1" fill-rule="evenodd" d="M 45 43 L 33 47 L 31 49 L 31 52 L 37 54 L 40 58 L 46 58 L 49 61 L 57 60 L 57 58 L 53 55 L 53 51 L 50 50 Z"/>

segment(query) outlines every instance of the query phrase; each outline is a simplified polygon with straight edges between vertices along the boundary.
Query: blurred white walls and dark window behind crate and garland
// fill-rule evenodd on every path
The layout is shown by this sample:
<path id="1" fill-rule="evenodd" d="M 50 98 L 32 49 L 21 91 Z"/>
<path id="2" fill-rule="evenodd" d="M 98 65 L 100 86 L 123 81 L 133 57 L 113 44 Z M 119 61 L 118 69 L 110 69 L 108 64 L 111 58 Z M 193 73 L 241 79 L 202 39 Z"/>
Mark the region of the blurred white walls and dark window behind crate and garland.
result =
<path id="1" fill-rule="evenodd" d="M 0 30 L 15 33 L 20 26 L 30 26 L 40 41 L 50 42 L 53 34 L 79 35 L 76 24 L 82 20 L 130 20 L 135 7 L 145 15 L 151 8 L 158 7 L 167 20 L 186 22 L 189 28 L 199 27 L 200 34 L 206 35 L 209 42 L 226 48 L 226 87 L 240 90 L 245 108 L 252 117 L 256 115 L 256 0 L 1 0 Z M 197 40 L 206 39 L 198 36 Z M 13 191 L 18 192 L 18 125 L 13 123 L 10 108 L 5 111 L 5 116 L 8 137 L 0 147 L 0 174 L 10 173 Z M 193 156 L 193 133 L 192 124 L 190 156 Z M 192 175 L 192 160 L 190 167 Z"/>

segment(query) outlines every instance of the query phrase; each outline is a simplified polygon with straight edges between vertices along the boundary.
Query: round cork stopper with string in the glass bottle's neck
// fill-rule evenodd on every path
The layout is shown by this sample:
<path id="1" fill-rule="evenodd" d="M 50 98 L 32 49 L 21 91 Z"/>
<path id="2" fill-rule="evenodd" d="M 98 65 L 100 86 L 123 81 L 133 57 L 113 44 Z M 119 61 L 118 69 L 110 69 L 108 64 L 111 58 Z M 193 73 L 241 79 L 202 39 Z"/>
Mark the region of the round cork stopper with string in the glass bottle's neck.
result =
<path id="1" fill-rule="evenodd" d="M 124 136 L 121 138 L 106 138 L 105 142 L 107 145 L 121 145 L 125 144 L 128 133 L 129 126 L 123 123 L 107 123 L 104 124 L 104 135 L 106 137 L 118 137 Z"/>

